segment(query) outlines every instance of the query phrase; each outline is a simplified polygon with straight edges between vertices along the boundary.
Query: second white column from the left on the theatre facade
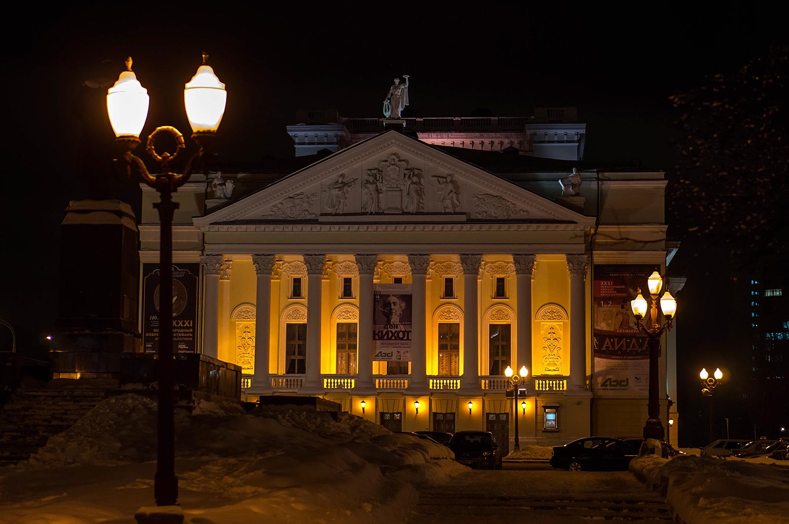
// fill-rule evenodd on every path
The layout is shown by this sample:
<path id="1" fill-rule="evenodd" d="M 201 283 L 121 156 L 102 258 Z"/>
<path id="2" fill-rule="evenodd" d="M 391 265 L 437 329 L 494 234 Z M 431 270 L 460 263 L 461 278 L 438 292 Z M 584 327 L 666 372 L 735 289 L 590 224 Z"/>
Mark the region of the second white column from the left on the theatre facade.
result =
<path id="1" fill-rule="evenodd" d="M 269 341 L 271 340 L 269 316 L 271 315 L 271 269 L 274 255 L 252 255 L 252 266 L 257 273 L 255 298 L 255 375 L 251 393 L 271 392 L 268 377 Z"/>

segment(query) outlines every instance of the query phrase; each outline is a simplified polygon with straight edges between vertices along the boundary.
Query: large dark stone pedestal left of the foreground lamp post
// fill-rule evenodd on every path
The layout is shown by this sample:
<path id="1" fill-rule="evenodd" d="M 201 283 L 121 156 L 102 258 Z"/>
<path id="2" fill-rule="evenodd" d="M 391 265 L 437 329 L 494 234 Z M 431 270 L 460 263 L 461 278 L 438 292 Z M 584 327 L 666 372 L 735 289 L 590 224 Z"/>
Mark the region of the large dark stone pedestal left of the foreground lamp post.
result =
<path id="1" fill-rule="evenodd" d="M 73 200 L 62 222 L 58 321 L 52 378 L 117 378 L 118 355 L 140 351 L 140 263 L 132 208 L 118 200 Z"/>

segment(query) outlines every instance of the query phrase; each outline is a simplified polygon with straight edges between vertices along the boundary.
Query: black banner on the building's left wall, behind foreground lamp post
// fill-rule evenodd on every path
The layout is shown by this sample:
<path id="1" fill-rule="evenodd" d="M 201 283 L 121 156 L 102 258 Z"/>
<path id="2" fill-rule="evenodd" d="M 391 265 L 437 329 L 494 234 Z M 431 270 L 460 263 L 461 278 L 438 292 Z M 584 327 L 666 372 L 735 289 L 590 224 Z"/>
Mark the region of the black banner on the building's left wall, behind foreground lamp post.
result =
<path id="1" fill-rule="evenodd" d="M 143 264 L 143 348 L 159 350 L 159 264 Z M 200 264 L 173 264 L 173 351 L 197 351 Z"/>

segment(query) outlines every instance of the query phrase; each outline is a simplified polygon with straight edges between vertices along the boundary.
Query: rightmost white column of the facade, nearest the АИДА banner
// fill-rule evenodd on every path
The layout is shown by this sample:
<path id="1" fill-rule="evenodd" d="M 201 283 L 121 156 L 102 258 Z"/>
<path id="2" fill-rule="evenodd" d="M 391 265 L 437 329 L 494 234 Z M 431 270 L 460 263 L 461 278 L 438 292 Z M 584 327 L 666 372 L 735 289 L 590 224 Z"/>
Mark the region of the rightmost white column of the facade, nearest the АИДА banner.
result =
<path id="1" fill-rule="evenodd" d="M 570 273 L 570 385 L 586 388 L 586 295 L 589 255 L 567 255 Z"/>

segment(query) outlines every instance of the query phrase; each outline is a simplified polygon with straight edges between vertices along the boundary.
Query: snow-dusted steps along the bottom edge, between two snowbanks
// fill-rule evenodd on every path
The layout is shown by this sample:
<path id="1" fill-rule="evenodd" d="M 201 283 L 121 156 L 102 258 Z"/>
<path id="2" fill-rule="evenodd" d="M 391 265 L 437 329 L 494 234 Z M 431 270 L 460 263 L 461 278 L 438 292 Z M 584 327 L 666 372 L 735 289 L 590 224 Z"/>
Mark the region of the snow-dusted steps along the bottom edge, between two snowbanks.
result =
<path id="1" fill-rule="evenodd" d="M 529 496 L 463 496 L 458 492 L 428 490 L 419 497 L 409 522 L 457 522 L 461 516 L 480 518 L 524 516 L 523 511 L 540 518 L 540 522 L 585 522 L 594 520 L 632 521 L 639 524 L 674 522 L 671 509 L 659 496 L 632 498 L 565 498 Z"/>

